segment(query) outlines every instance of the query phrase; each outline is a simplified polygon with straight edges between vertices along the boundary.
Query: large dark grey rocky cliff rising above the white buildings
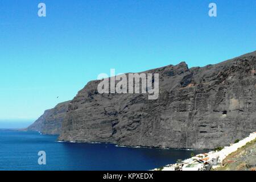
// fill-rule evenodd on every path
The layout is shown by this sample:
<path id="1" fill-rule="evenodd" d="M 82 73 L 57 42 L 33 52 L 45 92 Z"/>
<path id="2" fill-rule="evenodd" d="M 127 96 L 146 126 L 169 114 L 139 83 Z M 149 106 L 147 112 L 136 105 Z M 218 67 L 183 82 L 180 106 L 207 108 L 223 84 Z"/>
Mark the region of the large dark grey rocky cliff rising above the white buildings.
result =
<path id="1" fill-rule="evenodd" d="M 60 140 L 126 146 L 215 148 L 256 129 L 256 51 L 216 65 L 159 73 L 159 98 L 99 94 L 90 81 L 68 106 Z"/>

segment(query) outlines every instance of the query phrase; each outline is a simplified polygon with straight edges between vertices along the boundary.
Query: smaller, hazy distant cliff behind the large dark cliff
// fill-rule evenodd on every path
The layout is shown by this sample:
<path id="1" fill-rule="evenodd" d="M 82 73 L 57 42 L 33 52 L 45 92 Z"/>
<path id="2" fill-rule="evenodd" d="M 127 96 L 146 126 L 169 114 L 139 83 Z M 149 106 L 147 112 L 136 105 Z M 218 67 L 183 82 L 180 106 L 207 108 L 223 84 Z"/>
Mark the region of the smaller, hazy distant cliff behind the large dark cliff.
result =
<path id="1" fill-rule="evenodd" d="M 53 109 L 44 111 L 32 125 L 28 126 L 28 131 L 40 131 L 43 134 L 60 134 L 61 124 L 68 110 L 70 101 L 57 104 Z"/>

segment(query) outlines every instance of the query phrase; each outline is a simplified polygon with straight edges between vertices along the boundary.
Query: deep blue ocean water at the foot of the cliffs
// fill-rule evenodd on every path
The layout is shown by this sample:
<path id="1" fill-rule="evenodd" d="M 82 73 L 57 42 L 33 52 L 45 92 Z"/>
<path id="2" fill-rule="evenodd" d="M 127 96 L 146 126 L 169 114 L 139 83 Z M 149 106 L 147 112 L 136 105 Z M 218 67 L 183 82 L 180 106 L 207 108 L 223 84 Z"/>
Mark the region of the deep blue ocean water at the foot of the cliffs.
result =
<path id="1" fill-rule="evenodd" d="M 46 152 L 46 165 L 38 152 Z M 186 159 L 191 152 L 117 147 L 110 143 L 57 142 L 57 136 L 0 130 L 0 170 L 148 170 Z"/>

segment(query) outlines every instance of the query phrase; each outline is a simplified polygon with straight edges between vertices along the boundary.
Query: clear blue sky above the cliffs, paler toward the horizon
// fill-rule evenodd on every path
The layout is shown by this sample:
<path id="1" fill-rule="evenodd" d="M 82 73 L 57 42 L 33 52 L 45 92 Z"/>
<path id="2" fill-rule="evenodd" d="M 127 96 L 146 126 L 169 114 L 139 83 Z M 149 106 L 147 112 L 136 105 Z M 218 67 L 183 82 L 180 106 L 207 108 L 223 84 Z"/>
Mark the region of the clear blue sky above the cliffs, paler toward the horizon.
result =
<path id="1" fill-rule="evenodd" d="M 255 0 L 1 0 L 0 119 L 38 118 L 110 68 L 204 66 L 255 51 L 255 10 Z"/>

